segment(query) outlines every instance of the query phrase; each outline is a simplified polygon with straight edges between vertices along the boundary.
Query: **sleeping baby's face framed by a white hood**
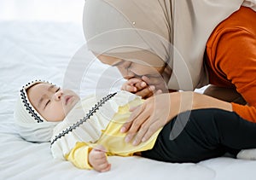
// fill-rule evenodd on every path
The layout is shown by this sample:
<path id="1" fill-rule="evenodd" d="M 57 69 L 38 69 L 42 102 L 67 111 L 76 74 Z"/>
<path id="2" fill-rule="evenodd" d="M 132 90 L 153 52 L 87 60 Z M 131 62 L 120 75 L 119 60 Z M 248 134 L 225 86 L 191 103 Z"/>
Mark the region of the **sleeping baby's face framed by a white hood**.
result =
<path id="1" fill-rule="evenodd" d="M 72 90 L 61 90 L 53 84 L 35 84 L 27 90 L 32 106 L 47 121 L 61 121 L 79 102 L 79 96 Z"/>

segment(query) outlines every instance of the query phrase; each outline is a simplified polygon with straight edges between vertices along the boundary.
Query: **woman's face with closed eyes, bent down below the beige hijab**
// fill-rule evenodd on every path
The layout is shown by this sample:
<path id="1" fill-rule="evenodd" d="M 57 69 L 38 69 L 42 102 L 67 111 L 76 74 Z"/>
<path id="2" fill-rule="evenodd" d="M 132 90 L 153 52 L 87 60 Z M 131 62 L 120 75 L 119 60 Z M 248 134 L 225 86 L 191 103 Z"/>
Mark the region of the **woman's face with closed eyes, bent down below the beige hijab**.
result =
<path id="1" fill-rule="evenodd" d="M 161 76 L 161 73 L 164 70 L 164 67 L 149 67 L 147 65 L 132 61 L 124 61 L 108 55 L 98 55 L 97 58 L 104 64 L 108 64 L 112 67 L 118 67 L 119 72 L 125 79 L 142 78 L 143 76 L 147 76 L 148 78 L 157 78 Z"/>

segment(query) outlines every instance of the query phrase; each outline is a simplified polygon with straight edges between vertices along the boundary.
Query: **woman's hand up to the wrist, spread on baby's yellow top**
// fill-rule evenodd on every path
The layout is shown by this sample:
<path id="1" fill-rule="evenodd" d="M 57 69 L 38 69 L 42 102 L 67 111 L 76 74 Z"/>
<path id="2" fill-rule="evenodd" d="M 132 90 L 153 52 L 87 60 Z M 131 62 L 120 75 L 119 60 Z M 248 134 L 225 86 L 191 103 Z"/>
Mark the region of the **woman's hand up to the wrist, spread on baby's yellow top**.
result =
<path id="1" fill-rule="evenodd" d="M 174 98 L 171 103 L 170 94 L 161 94 L 148 98 L 141 106 L 132 109 L 130 119 L 121 128 L 121 132 L 127 132 L 125 142 L 133 138 L 133 145 L 147 141 L 172 119 L 171 105 L 174 110 L 178 108 L 175 101 Z"/>

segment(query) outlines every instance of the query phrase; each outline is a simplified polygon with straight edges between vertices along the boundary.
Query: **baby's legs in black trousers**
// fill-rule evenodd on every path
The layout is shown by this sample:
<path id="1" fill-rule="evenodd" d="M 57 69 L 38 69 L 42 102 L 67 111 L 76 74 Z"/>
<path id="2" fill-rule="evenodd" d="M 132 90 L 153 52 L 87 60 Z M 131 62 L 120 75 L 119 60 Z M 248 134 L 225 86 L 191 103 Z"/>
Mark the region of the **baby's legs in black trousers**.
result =
<path id="1" fill-rule="evenodd" d="M 227 152 L 236 155 L 244 148 L 256 148 L 256 124 L 236 113 L 209 108 L 180 113 L 160 131 L 154 148 L 142 152 L 142 156 L 167 162 L 198 162 Z"/>

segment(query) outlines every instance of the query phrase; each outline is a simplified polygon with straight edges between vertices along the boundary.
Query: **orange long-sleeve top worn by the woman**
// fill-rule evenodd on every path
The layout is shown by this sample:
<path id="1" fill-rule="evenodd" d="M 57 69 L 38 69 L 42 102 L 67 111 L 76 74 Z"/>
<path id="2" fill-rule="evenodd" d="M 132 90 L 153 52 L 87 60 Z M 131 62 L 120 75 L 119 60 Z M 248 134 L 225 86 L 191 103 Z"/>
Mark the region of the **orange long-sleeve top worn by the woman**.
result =
<path id="1" fill-rule="evenodd" d="M 256 12 L 241 7 L 221 22 L 207 42 L 210 84 L 234 88 L 246 100 L 233 111 L 256 123 Z"/>

